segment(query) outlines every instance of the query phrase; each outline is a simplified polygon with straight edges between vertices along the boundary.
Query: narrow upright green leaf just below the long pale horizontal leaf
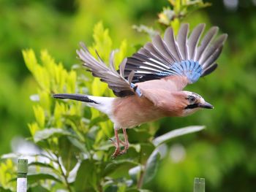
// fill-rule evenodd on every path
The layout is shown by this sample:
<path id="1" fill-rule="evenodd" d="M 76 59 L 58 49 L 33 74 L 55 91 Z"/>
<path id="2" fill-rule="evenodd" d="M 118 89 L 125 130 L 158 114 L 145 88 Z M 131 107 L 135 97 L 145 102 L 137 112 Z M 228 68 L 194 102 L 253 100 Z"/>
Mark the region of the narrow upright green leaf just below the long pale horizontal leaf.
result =
<path id="1" fill-rule="evenodd" d="M 146 163 L 145 174 L 143 176 L 143 185 L 149 183 L 157 174 L 159 160 L 160 154 L 158 153 L 158 150 L 154 150 L 154 152 L 150 155 Z"/>

